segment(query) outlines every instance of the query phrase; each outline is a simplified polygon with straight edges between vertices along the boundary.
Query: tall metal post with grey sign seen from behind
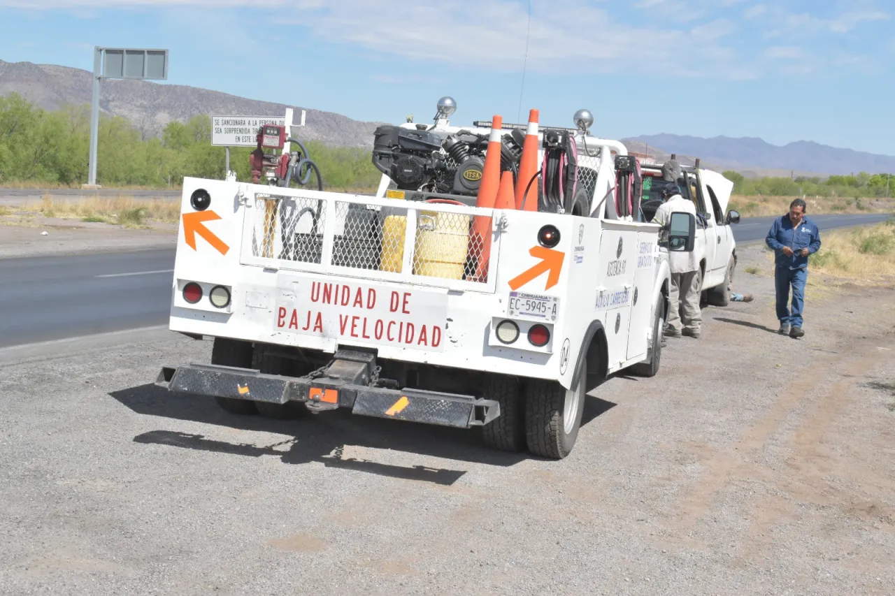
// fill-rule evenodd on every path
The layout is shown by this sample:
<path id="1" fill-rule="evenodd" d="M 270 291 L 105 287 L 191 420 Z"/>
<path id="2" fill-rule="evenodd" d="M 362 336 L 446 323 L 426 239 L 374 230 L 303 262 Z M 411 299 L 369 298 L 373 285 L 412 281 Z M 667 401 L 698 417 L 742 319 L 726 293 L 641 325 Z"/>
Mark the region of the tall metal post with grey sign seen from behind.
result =
<path id="1" fill-rule="evenodd" d="M 90 106 L 90 167 L 85 187 L 97 188 L 97 140 L 99 137 L 99 81 L 133 79 L 166 81 L 166 49 L 95 47 L 93 50 L 93 103 Z"/>

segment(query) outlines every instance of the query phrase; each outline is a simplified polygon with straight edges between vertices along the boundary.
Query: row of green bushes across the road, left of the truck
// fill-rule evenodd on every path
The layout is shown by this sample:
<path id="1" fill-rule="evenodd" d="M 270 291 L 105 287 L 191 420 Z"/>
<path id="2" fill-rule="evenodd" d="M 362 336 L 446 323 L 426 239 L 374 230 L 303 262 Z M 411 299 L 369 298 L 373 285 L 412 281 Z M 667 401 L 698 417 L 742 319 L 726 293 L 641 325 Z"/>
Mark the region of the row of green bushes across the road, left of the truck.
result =
<path id="1" fill-rule="evenodd" d="M 305 146 L 320 166 L 325 189 L 360 192 L 379 184 L 370 151 L 313 141 Z M 251 181 L 251 150 L 230 151 L 230 167 L 243 182 Z M 223 179 L 225 154 L 225 148 L 211 146 L 211 119 L 206 115 L 169 123 L 160 138 L 144 138 L 124 118 L 101 115 L 97 182 L 170 188 L 183 183 L 184 176 Z M 80 186 L 87 182 L 89 161 L 89 106 L 47 112 L 14 93 L 0 97 L 0 183 Z M 307 187 L 316 189 L 316 177 L 311 176 Z"/>

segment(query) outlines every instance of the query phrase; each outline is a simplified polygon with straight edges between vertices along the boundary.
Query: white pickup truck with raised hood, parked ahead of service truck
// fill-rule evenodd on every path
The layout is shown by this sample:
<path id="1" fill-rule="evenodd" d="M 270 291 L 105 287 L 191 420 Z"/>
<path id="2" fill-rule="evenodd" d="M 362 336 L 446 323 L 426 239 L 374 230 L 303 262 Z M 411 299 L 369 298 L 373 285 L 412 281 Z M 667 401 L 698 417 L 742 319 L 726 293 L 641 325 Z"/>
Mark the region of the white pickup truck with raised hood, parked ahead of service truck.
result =
<path id="1" fill-rule="evenodd" d="M 739 213 L 728 211 L 733 183 L 712 170 L 682 166 L 676 182 L 662 178 L 661 166 L 642 165 L 644 174 L 644 216 L 652 219 L 661 204 L 660 192 L 676 183 L 685 199 L 692 200 L 700 215 L 696 227 L 695 252 L 699 255 L 703 302 L 727 306 L 734 273 L 737 269 L 737 243 L 732 224 L 739 223 Z M 652 206 L 652 209 L 648 209 Z"/>

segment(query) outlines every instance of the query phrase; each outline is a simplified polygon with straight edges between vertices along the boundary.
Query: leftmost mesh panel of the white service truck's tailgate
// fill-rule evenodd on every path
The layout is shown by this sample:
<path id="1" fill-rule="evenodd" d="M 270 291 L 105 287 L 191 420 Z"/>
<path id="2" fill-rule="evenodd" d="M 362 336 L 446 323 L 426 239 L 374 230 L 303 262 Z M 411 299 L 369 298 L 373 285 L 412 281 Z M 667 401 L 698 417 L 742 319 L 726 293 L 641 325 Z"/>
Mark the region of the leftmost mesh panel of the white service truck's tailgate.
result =
<path id="1" fill-rule="evenodd" d="M 305 197 L 258 196 L 251 253 L 267 259 L 320 264 L 326 205 Z"/>

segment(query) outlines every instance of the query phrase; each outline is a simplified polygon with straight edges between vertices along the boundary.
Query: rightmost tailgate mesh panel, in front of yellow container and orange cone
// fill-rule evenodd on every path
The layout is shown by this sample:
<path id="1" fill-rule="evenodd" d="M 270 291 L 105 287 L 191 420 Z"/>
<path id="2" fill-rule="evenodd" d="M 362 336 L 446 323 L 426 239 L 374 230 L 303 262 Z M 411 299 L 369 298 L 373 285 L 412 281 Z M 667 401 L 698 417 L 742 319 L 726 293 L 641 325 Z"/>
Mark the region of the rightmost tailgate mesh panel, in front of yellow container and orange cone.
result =
<path id="1" fill-rule="evenodd" d="M 420 210 L 413 275 L 488 281 L 491 218 Z"/>

